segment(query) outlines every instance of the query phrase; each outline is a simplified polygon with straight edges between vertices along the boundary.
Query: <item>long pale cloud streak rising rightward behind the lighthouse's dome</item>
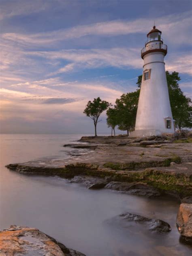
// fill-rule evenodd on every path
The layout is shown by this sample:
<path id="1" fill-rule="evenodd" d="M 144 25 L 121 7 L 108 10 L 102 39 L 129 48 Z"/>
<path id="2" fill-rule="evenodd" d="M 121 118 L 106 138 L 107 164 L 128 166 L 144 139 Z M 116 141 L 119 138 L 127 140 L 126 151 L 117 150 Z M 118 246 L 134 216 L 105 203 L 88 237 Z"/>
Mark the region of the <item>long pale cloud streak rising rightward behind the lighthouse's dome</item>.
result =
<path id="1" fill-rule="evenodd" d="M 77 39 L 89 35 L 117 36 L 133 33 L 147 33 L 153 22 L 154 17 L 151 17 L 151 19 L 135 19 L 132 21 L 119 19 L 36 34 L 4 33 L 2 38 L 9 41 L 15 41 L 22 45 L 45 46 L 46 44 L 55 44 L 55 42 L 58 41 Z M 166 39 L 170 38 L 171 42 L 174 44 L 186 44 L 191 42 L 190 23 L 190 11 L 177 15 L 166 15 L 156 19 L 156 24 L 159 24 L 158 28 L 160 30 L 162 29 Z M 179 37 L 178 31 L 180 33 Z M 173 41 L 173 38 L 177 38 L 177 40 Z"/>

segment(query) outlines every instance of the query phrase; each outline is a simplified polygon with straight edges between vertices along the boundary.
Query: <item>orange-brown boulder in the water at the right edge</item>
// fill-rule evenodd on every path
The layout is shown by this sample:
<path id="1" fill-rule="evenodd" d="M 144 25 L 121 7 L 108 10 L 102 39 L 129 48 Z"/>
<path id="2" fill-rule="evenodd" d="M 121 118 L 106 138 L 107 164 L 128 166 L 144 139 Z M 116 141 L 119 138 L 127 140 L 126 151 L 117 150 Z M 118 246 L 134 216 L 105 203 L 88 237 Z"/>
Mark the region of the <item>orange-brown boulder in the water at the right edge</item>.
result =
<path id="1" fill-rule="evenodd" d="M 192 245 L 192 204 L 180 204 L 176 225 L 182 240 Z"/>

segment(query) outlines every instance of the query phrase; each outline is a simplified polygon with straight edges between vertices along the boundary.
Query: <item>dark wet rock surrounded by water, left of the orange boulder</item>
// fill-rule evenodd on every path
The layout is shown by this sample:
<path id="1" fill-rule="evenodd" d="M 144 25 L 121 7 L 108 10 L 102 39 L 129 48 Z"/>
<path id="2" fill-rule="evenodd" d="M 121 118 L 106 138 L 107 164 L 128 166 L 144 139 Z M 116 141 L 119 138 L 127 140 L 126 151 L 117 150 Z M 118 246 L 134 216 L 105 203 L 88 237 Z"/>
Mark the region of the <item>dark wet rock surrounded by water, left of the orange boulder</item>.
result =
<path id="1" fill-rule="evenodd" d="M 171 226 L 161 219 L 150 219 L 133 213 L 123 213 L 120 214 L 119 217 L 126 221 L 134 221 L 145 224 L 147 226 L 147 229 L 153 232 L 166 233 L 171 231 Z"/>

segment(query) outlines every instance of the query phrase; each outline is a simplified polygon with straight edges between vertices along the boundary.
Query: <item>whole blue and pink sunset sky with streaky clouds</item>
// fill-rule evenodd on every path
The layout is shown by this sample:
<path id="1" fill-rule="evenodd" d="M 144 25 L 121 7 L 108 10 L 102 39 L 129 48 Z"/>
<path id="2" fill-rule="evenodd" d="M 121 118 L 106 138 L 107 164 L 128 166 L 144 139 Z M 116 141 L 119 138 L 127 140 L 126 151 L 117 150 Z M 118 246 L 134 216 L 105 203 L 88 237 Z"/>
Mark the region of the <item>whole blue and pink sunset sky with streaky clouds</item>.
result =
<path id="1" fill-rule="evenodd" d="M 93 133 L 87 101 L 137 90 L 146 34 L 192 97 L 191 0 L 0 0 L 0 132 Z M 99 133 L 109 132 L 101 115 Z"/>

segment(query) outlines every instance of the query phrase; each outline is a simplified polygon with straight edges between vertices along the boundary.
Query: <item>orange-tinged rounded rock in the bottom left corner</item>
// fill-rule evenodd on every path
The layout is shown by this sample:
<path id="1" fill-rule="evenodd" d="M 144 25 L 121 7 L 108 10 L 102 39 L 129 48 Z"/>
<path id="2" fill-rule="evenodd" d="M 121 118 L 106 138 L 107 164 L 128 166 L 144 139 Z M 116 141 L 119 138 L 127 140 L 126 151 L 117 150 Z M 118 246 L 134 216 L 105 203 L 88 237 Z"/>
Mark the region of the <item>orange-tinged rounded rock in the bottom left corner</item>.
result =
<path id="1" fill-rule="evenodd" d="M 1 256 L 85 256 L 39 231 L 12 225 L 0 231 Z"/>

